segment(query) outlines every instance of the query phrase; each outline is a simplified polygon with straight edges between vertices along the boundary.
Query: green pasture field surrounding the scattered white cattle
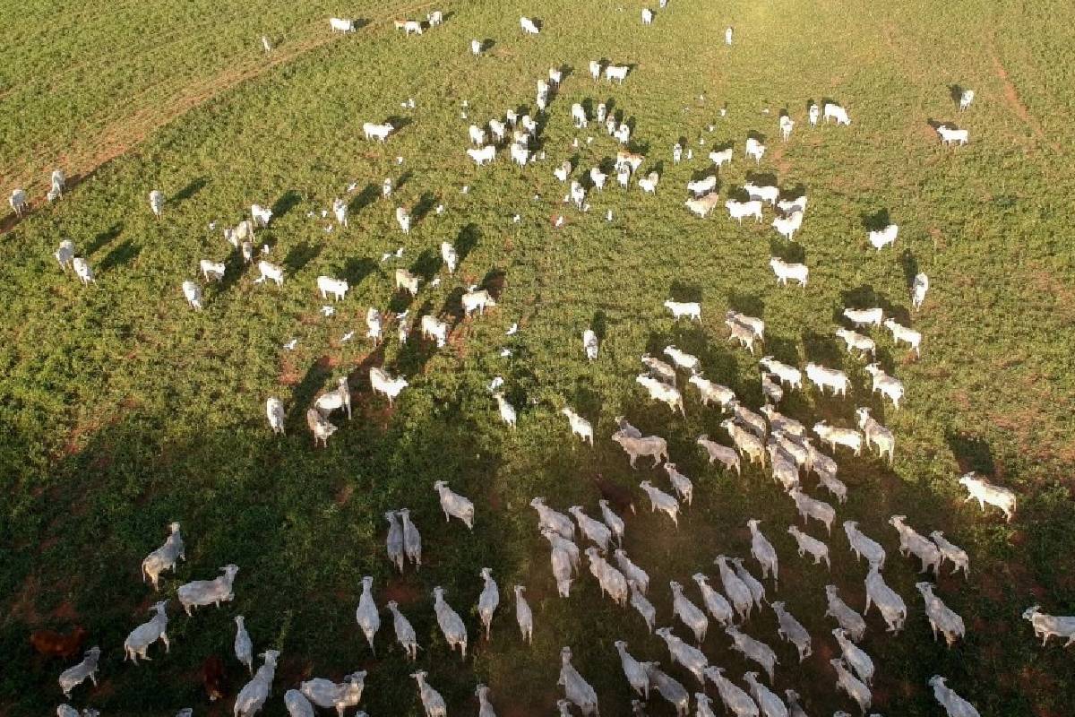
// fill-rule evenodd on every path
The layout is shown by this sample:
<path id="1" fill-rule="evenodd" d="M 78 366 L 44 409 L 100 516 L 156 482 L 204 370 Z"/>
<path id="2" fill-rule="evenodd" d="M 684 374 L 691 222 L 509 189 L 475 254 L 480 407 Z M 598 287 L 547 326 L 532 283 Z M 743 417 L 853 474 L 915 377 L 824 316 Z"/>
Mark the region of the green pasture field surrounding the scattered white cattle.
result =
<path id="1" fill-rule="evenodd" d="M 501 715 L 554 714 L 563 645 L 597 688 L 602 713 L 628 714 L 629 688 L 612 647 L 618 639 L 693 691 L 690 675 L 670 666 L 663 642 L 646 634 L 633 611 L 601 600 L 588 574 L 570 599 L 556 597 L 528 503 L 541 494 L 560 510 L 579 504 L 597 515 L 599 483 L 633 496 L 639 512 L 627 515 L 626 546 L 653 577 L 658 625 L 673 623 L 668 582 L 684 583 L 697 599 L 690 575 L 716 576 L 717 554 L 747 556 L 745 522 L 761 518 L 782 559 L 779 590 L 770 586 L 770 596 L 787 601 L 811 631 L 814 656 L 797 662 L 768 608 L 746 630 L 777 650 L 776 686 L 801 692 L 809 714 L 855 713 L 834 688 L 834 625 L 821 617 L 829 582 L 852 606 L 864 600 L 865 571 L 842 531 L 829 541 L 831 576 L 797 558 L 786 527 L 798 517 L 778 486 L 756 468 L 742 478 L 711 469 L 693 444 L 701 433 L 727 443 L 719 412 L 703 408 L 691 388 L 686 418 L 673 416 L 634 384 L 639 356 L 674 343 L 757 408 L 756 360 L 726 341 L 723 313 L 734 307 L 765 319 L 768 354 L 842 367 L 855 379 L 846 400 L 792 392 L 784 413 L 849 425 L 856 406 L 870 405 L 897 434 L 891 467 L 836 455 L 849 487 L 837 520 L 860 520 L 884 544 L 886 580 L 911 613 L 894 637 L 876 612 L 868 617 L 862 646 L 877 665 L 874 711 L 943 714 L 926 685 L 941 674 L 984 716 L 1070 714 L 1071 650 L 1042 648 L 1019 616 L 1035 603 L 1075 614 L 1067 568 L 1075 549 L 1075 49 L 1067 39 L 1075 10 L 1048 0 L 1007 4 L 671 0 L 643 28 L 634 2 L 474 0 L 440 5 L 445 25 L 407 39 L 388 20 L 424 17 L 434 5 L 20 6 L 0 27 L 0 190 L 26 187 L 34 211 L 3 220 L 10 231 L 0 236 L 0 713 L 44 714 L 63 702 L 56 677 L 68 664 L 34 655 L 27 636 L 81 623 L 102 647 L 101 685 L 77 688 L 72 704 L 105 717 L 184 706 L 231 714 L 230 698 L 245 682 L 231 657 L 232 617 L 243 614 L 258 651 L 283 653 L 263 714 L 285 714 L 280 698 L 300 679 L 364 669 L 370 715 L 419 715 L 407 677 L 414 668 L 390 621 L 382 617 L 377 658 L 355 622 L 363 575 L 374 576 L 378 604 L 399 601 L 414 622 L 418 665 L 452 714 L 476 711 L 476 682 L 492 688 Z M 15 13 L 11 0 L 0 8 Z M 541 35 L 521 35 L 522 14 L 543 20 Z M 330 37 L 329 15 L 369 23 Z M 722 42 L 729 24 L 732 47 Z M 268 57 L 261 34 L 276 43 Z M 492 41 L 483 57 L 467 52 L 471 38 Z M 635 66 L 622 87 L 592 83 L 587 62 L 601 57 Z M 541 133 L 547 158 L 520 170 L 503 150 L 491 167 L 475 168 L 463 154 L 470 121 L 532 106 L 536 80 L 554 64 L 571 71 Z M 963 116 L 952 85 L 977 92 Z M 416 109 L 402 109 L 411 97 Z M 807 101 L 822 98 L 845 104 L 854 124 L 811 129 Z M 463 100 L 470 120 L 459 118 Z M 553 168 L 575 157 L 578 174 L 616 152 L 603 129 L 572 128 L 569 107 L 584 100 L 608 102 L 633 120 L 634 146 L 648 157 L 644 171 L 661 173 L 655 197 L 610 186 L 590 197 L 587 214 L 563 209 L 565 188 Z M 785 107 L 798 124 L 780 144 L 776 116 Z M 362 140 L 363 121 L 389 117 L 403 127 L 387 144 Z M 941 147 L 930 120 L 969 128 L 970 145 Z M 750 131 L 769 141 L 758 168 L 741 154 Z M 673 164 L 680 138 L 694 159 Z M 710 166 L 712 145 L 727 141 L 736 158 L 721 170 L 722 196 L 754 172 L 806 189 L 798 243 L 764 225 L 741 228 L 722 209 L 704 221 L 684 209 L 686 182 Z M 62 202 L 43 205 L 55 166 L 78 182 Z M 398 185 L 391 201 L 379 198 L 385 177 Z M 160 221 L 146 201 L 155 188 L 169 198 Z M 326 233 L 319 213 L 334 197 L 347 198 L 350 226 Z M 207 228 L 234 224 L 252 202 L 275 210 L 262 235 L 287 270 L 280 290 L 254 285 L 219 226 Z M 398 204 L 415 210 L 408 236 L 396 226 Z M 438 204 L 443 214 L 431 211 Z M 568 224 L 553 229 L 549 217 L 560 212 Z M 900 239 L 877 253 L 865 227 L 885 214 L 900 224 Z M 96 286 L 57 269 L 52 252 L 62 239 L 92 264 Z M 460 252 L 455 277 L 441 271 L 442 241 Z M 381 262 L 400 245 L 402 260 Z M 778 287 L 771 254 L 807 263 L 809 286 Z M 180 284 L 195 278 L 199 259 L 226 257 L 227 277 L 205 288 L 203 312 L 190 311 Z M 398 266 L 427 278 L 440 272 L 442 284 L 404 300 L 391 287 Z M 908 285 L 918 271 L 931 289 L 912 315 Z M 319 274 L 352 285 L 331 318 L 318 314 Z M 499 306 L 464 320 L 459 296 L 472 283 L 497 289 Z M 669 297 L 702 301 L 702 324 L 673 321 L 661 307 Z M 882 363 L 907 387 L 899 412 L 871 397 L 862 362 L 832 334 L 845 305 L 874 304 L 924 335 L 916 361 L 887 332 L 874 332 Z M 395 331 L 373 353 L 357 338 L 342 344 L 347 331 L 364 333 L 371 305 L 449 317 L 448 347 L 436 350 L 417 334 L 401 346 Z M 505 338 L 516 321 L 519 333 Z M 592 363 L 580 347 L 588 327 L 603 338 Z M 282 349 L 292 338 L 296 349 Z M 504 347 L 511 358 L 500 356 Z M 411 382 L 395 408 L 370 392 L 368 369 L 379 364 Z M 333 419 L 340 430 L 328 449 L 314 450 L 305 410 L 344 374 L 355 419 Z M 516 431 L 500 422 L 485 388 L 496 375 L 520 407 Z M 269 431 L 269 396 L 285 402 L 286 438 Z M 571 440 L 558 413 L 564 405 L 594 421 L 596 448 Z M 666 438 L 694 481 L 678 530 L 650 514 L 636 488 L 643 478 L 666 488 L 663 471 L 631 471 L 607 440 L 617 415 Z M 1018 492 L 1010 524 L 962 502 L 956 479 L 971 470 Z M 435 479 L 474 500 L 473 533 L 443 522 Z M 813 478 L 806 485 L 826 498 Z M 426 562 L 399 577 L 385 559 L 382 514 L 401 506 L 422 531 Z M 968 628 L 950 650 L 931 640 L 914 589 L 917 562 L 897 554 L 886 522 L 894 513 L 921 532 L 944 530 L 971 556 L 969 580 L 949 577 L 947 568 L 938 580 L 938 596 Z M 171 654 L 155 646 L 153 661 L 135 668 L 121 661 L 121 644 L 158 599 L 139 578 L 139 563 L 171 520 L 183 524 L 187 561 L 166 573 L 163 594 L 174 598 L 178 585 L 234 562 L 235 600 L 187 618 L 173 599 Z M 807 532 L 823 535 L 817 524 Z M 502 600 L 489 643 L 478 637 L 473 607 L 484 565 Z M 528 586 L 535 613 L 532 648 L 514 623 L 516 583 Z M 465 662 L 449 656 L 436 628 L 435 585 L 467 619 L 474 656 Z M 682 625 L 676 633 L 686 636 Z M 707 657 L 741 683 L 751 666 L 729 643 L 711 625 Z M 226 658 L 232 685 L 229 699 L 211 705 L 198 668 L 214 653 Z M 654 698 L 649 714 L 672 712 Z"/>

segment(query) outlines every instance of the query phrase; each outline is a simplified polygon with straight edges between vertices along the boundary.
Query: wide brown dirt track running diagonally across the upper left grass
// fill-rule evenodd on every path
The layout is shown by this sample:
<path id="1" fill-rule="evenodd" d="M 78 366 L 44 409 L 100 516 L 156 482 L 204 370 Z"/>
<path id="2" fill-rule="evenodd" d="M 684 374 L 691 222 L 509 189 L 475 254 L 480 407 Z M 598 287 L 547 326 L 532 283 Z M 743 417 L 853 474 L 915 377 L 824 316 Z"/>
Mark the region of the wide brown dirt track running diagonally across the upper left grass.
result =
<path id="1" fill-rule="evenodd" d="M 384 25 L 395 17 L 408 15 L 433 4 L 435 2 L 427 1 L 406 8 L 396 8 L 389 14 L 371 19 L 362 29 Z M 287 45 L 286 48 L 274 49 L 268 59 L 259 56 L 256 61 L 252 59 L 206 80 L 192 82 L 163 102 L 142 106 L 129 116 L 105 125 L 83 147 L 69 154 L 60 155 L 55 161 L 42 164 L 29 173 L 32 176 L 44 177 L 48 176 L 49 170 L 54 166 L 61 166 L 69 175 L 68 190 L 70 190 L 83 178 L 91 175 L 108 162 L 144 142 L 153 132 L 161 127 L 171 124 L 188 112 L 198 109 L 206 102 L 211 102 L 245 82 L 256 80 L 270 70 L 291 62 L 306 53 L 339 39 L 335 33 L 324 33 L 324 30 L 315 31 L 313 29 L 315 25 L 318 28 L 322 28 L 324 20 L 311 23 L 304 33 L 304 39 Z M 312 32 L 317 32 L 317 34 L 312 35 Z M 31 211 L 25 215 L 30 216 L 33 214 L 33 209 L 35 209 L 33 205 L 41 206 L 44 203 L 43 195 L 47 186 L 44 182 L 39 181 L 24 183 L 23 188 L 26 189 L 30 197 L 33 197 L 31 200 Z M 0 234 L 10 231 L 20 220 L 14 214 L 5 216 L 0 220 Z"/>

